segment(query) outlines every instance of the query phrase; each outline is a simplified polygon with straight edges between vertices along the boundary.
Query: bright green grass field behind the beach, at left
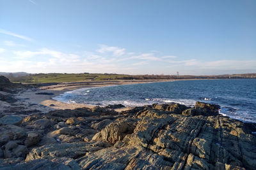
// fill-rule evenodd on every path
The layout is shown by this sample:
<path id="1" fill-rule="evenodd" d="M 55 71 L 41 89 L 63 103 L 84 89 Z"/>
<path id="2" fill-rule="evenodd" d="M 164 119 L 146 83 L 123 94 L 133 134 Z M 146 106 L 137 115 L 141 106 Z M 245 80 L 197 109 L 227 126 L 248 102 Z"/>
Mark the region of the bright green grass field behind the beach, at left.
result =
<path id="1" fill-rule="evenodd" d="M 109 80 L 122 80 L 122 78 L 129 76 L 125 74 L 31 74 L 19 78 L 11 78 L 12 82 L 17 83 L 60 83 L 71 81 L 109 81 Z"/>

